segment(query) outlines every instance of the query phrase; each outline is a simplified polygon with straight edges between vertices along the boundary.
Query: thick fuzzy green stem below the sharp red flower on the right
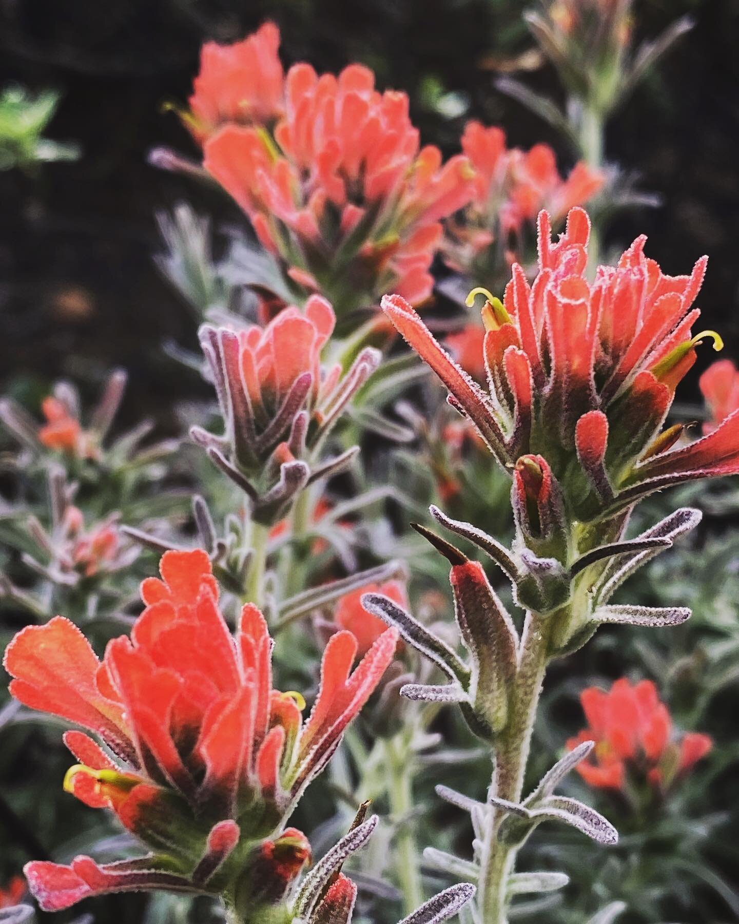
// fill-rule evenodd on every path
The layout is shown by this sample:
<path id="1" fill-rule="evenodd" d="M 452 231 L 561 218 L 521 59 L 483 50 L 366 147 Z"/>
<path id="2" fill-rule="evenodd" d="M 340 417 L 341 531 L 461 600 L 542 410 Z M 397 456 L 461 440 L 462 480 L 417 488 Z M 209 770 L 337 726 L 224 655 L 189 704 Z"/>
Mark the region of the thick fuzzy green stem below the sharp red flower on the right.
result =
<path id="1" fill-rule="evenodd" d="M 509 802 L 521 801 L 528 750 L 547 665 L 549 632 L 549 626 L 538 615 L 527 615 L 512 696 L 512 717 L 495 747 L 495 768 L 490 788 L 491 796 Z M 478 906 L 481 924 L 507 924 L 508 920 L 507 887 L 515 865 L 516 848 L 498 843 L 501 821 L 503 814 L 492 809 L 480 857 Z"/>

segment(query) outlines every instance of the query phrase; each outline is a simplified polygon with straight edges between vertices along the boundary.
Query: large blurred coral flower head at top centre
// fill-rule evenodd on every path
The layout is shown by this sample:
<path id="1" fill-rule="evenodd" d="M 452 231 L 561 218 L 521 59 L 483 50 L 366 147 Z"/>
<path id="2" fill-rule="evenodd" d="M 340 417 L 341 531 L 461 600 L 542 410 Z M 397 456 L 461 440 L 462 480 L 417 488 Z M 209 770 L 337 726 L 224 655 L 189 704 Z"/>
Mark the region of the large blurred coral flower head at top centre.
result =
<path id="1" fill-rule="evenodd" d="M 368 67 L 338 77 L 309 64 L 285 77 L 272 128 L 232 120 L 204 145 L 203 165 L 248 214 L 299 293 L 321 291 L 343 318 L 395 288 L 430 295 L 440 219 L 472 193 L 466 158 L 419 150 L 405 93 L 375 90 Z"/>

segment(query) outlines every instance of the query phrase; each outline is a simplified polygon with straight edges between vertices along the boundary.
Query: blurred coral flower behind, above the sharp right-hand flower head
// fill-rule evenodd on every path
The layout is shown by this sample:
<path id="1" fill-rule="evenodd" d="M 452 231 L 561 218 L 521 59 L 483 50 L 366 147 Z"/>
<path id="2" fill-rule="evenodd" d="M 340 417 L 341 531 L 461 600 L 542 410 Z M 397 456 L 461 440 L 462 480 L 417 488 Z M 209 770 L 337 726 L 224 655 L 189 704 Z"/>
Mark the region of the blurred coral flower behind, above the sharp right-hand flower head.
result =
<path id="1" fill-rule="evenodd" d="M 548 144 L 527 152 L 507 148 L 502 128 L 479 122 L 467 123 L 462 151 L 475 171 L 474 196 L 447 222 L 444 254 L 450 266 L 469 277 L 496 278 L 515 259 L 523 260 L 542 209 L 558 225 L 603 184 L 602 174 L 583 161 L 565 179 Z"/>

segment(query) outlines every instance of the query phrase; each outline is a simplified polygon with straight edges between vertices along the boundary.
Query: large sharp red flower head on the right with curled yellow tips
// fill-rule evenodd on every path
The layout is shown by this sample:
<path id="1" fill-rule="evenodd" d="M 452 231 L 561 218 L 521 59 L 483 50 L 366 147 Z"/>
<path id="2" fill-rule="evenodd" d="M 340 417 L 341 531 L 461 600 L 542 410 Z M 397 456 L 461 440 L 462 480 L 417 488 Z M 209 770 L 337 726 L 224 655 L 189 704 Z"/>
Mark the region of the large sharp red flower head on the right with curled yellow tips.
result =
<path id="1" fill-rule="evenodd" d="M 539 215 L 539 275 L 529 285 L 514 264 L 503 302 L 483 308 L 485 391 L 433 339 L 405 299 L 383 309 L 449 389 L 507 469 L 544 456 L 578 519 L 630 505 L 673 481 L 739 471 L 739 416 L 684 448 L 682 427 L 661 432 L 676 385 L 706 336 L 693 336 L 692 308 L 706 268 L 668 276 L 638 237 L 616 266 L 588 282 L 588 215 L 571 210 L 551 242 Z M 575 462 L 576 460 L 576 462 Z M 575 463 L 575 464 L 573 464 Z"/>

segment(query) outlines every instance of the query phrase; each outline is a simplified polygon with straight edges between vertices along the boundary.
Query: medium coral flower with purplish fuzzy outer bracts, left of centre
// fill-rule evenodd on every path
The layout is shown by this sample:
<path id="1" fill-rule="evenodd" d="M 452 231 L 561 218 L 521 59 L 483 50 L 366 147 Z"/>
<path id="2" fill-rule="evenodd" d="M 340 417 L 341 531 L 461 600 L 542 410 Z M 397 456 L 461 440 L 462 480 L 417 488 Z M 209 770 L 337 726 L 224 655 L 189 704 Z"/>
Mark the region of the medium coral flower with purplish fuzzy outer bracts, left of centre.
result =
<path id="1" fill-rule="evenodd" d="M 345 468 L 349 449 L 327 461 L 317 453 L 345 407 L 380 360 L 363 349 L 344 375 L 340 363 L 321 366 L 333 331 L 331 305 L 311 296 L 305 310 L 281 310 L 266 327 L 200 328 L 221 414 L 223 436 L 191 435 L 245 492 L 253 517 L 276 524 L 309 482 Z"/>

